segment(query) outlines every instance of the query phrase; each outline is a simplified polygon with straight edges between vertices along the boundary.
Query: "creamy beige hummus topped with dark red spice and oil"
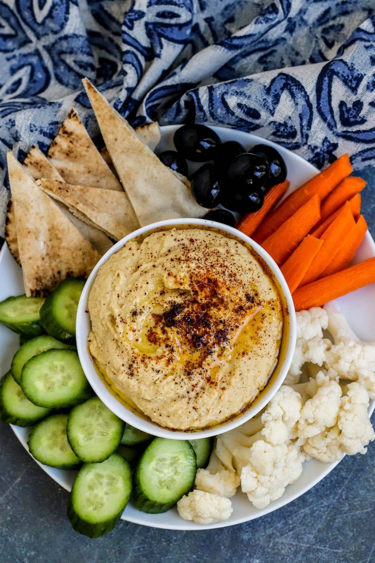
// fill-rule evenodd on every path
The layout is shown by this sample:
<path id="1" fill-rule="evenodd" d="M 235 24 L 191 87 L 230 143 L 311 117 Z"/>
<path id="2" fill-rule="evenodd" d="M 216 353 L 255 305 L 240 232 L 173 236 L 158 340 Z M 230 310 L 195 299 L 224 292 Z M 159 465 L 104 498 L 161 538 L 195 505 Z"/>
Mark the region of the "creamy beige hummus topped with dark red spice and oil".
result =
<path id="1" fill-rule="evenodd" d="M 98 271 L 88 309 L 97 367 L 161 426 L 193 430 L 242 412 L 277 361 L 277 288 L 255 252 L 215 230 L 126 243 Z"/>

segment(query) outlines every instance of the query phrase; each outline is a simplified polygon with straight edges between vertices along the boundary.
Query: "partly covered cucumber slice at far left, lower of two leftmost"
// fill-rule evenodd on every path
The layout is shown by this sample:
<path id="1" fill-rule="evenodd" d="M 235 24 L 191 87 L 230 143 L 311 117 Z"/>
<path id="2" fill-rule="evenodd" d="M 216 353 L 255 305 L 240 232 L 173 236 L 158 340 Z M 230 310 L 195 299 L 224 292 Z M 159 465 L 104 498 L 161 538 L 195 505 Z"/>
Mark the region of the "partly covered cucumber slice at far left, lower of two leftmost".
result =
<path id="1" fill-rule="evenodd" d="M 8 372 L 0 380 L 0 420 L 16 426 L 31 426 L 44 418 L 51 409 L 33 405 Z"/>

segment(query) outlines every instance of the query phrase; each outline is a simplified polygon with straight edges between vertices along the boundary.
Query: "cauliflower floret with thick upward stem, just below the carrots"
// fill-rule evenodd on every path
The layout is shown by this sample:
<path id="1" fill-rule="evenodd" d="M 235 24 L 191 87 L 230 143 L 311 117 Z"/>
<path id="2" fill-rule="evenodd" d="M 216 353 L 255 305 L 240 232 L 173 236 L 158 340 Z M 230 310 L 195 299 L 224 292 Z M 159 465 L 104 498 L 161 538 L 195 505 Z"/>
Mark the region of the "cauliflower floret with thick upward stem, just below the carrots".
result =
<path id="1" fill-rule="evenodd" d="M 327 311 L 328 330 L 335 341 L 324 362 L 329 378 L 358 381 L 375 399 L 375 345 L 361 342 L 344 315 L 328 307 Z"/>

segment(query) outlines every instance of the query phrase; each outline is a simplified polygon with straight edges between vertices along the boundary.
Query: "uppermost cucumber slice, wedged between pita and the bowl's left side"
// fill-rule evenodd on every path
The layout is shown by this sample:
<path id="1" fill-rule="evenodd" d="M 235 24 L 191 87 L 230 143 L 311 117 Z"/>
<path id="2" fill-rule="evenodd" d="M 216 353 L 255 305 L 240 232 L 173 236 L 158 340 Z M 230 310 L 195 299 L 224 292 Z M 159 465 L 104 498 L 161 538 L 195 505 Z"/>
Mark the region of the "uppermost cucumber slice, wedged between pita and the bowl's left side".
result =
<path id="1" fill-rule="evenodd" d="M 62 342 L 75 342 L 75 317 L 84 284 L 83 278 L 67 278 L 40 309 L 40 323 L 48 334 Z"/>

